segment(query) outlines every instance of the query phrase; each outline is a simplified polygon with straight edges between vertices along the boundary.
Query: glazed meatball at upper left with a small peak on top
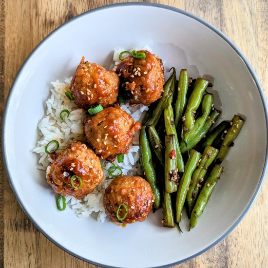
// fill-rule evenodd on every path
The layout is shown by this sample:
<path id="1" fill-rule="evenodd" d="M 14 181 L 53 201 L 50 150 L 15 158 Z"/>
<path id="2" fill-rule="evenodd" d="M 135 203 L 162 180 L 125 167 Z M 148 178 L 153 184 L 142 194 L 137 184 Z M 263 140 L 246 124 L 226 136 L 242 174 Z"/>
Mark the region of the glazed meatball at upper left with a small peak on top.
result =
<path id="1" fill-rule="evenodd" d="M 83 109 L 97 104 L 110 106 L 118 96 L 118 76 L 114 71 L 84 60 L 85 57 L 82 57 L 71 82 L 76 105 Z"/>

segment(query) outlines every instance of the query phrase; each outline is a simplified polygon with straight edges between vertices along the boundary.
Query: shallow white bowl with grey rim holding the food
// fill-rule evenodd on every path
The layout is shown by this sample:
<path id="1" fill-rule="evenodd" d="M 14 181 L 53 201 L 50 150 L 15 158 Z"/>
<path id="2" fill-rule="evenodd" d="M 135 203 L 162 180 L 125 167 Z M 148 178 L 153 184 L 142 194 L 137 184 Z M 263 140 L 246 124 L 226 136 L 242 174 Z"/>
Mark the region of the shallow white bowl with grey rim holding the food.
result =
<path id="1" fill-rule="evenodd" d="M 161 211 L 144 223 L 117 227 L 61 212 L 32 153 L 50 82 L 73 75 L 82 55 L 109 68 L 113 51 L 148 44 L 166 70 L 213 77 L 222 119 L 246 123 L 223 162 L 225 172 L 190 232 L 161 226 Z M 267 167 L 267 106 L 247 59 L 216 28 L 169 6 L 125 3 L 86 12 L 63 24 L 27 58 L 10 91 L 3 123 L 3 152 L 10 184 L 22 209 L 52 242 L 80 259 L 105 267 L 167 267 L 210 249 L 245 216 Z M 182 223 L 187 230 L 188 220 Z"/>

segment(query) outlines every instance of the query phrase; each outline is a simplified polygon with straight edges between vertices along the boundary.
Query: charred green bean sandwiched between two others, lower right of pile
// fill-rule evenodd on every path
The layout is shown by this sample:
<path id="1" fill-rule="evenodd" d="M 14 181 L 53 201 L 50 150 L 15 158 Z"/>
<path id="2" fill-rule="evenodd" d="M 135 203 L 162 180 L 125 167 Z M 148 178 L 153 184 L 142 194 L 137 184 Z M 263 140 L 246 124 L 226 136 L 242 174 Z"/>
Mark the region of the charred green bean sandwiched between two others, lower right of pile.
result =
<path id="1" fill-rule="evenodd" d="M 186 211 L 189 218 L 191 216 L 191 210 L 193 208 L 193 204 L 198 196 L 199 189 L 203 185 L 206 172 L 211 163 L 214 161 L 218 152 L 219 151 L 217 149 L 208 145 L 202 154 L 201 161 L 199 160 L 200 162 L 198 167 L 192 173 L 191 185 L 186 195 Z"/>

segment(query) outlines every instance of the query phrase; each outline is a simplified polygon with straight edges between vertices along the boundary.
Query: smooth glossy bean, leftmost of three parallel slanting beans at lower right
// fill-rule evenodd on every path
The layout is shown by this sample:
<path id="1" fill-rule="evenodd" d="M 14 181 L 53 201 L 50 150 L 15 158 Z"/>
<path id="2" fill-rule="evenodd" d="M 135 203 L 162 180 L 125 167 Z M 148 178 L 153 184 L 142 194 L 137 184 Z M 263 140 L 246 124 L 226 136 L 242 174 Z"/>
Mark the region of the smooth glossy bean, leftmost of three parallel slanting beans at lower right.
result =
<path id="1" fill-rule="evenodd" d="M 176 197 L 176 223 L 179 223 L 181 220 L 181 211 L 184 206 L 184 202 L 186 199 L 187 189 L 189 188 L 191 182 L 192 172 L 195 170 L 196 165 L 201 157 L 201 153 L 196 152 L 195 150 L 191 150 L 190 157 L 185 165 L 185 171 L 182 175 L 182 178 L 179 183 L 179 188 L 177 191 Z M 188 189 L 189 190 L 189 189 Z"/>

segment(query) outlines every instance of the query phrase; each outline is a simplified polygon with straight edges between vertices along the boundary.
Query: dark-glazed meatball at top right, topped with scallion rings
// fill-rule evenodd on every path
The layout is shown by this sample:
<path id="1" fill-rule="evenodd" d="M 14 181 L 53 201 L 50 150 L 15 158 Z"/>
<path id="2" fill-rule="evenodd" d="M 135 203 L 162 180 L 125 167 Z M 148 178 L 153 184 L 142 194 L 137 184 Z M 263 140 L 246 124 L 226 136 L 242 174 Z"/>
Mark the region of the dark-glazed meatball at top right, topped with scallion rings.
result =
<path id="1" fill-rule="evenodd" d="M 126 99 L 131 103 L 149 105 L 159 99 L 165 83 L 164 67 L 161 59 L 149 51 L 146 58 L 134 58 L 132 55 L 123 59 L 116 67 L 120 76 Z"/>

